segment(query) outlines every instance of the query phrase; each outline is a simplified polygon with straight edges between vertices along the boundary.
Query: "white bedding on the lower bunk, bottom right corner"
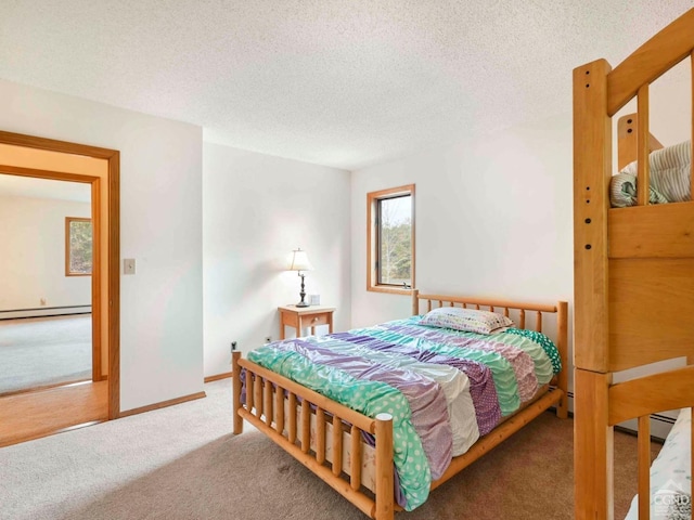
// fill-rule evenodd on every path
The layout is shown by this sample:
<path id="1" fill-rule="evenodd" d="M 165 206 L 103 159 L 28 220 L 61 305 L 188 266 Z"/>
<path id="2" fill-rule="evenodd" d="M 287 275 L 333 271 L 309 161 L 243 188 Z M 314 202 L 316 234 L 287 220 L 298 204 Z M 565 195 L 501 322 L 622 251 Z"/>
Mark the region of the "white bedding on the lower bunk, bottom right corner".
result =
<path id="1" fill-rule="evenodd" d="M 651 518 L 692 518 L 692 413 L 682 408 L 660 453 L 651 466 Z M 639 495 L 631 502 L 627 520 L 639 520 Z"/>

